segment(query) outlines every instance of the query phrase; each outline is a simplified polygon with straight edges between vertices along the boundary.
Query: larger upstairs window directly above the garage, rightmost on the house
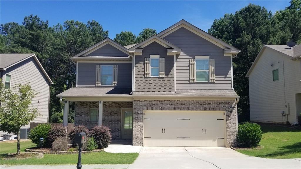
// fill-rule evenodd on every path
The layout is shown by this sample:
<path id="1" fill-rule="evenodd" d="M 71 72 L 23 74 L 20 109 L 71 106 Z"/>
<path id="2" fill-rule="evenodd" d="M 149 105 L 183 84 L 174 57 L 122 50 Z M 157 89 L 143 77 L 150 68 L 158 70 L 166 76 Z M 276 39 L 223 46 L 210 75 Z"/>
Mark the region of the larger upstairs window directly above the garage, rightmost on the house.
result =
<path id="1" fill-rule="evenodd" d="M 195 56 L 197 82 L 209 82 L 209 57 Z"/>

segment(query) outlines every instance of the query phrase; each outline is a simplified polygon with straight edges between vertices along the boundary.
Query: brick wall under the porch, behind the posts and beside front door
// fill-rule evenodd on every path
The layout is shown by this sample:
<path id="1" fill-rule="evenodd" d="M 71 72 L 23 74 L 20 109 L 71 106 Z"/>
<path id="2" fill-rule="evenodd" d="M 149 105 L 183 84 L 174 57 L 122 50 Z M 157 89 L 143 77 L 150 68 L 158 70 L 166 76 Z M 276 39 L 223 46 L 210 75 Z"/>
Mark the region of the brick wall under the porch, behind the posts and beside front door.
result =
<path id="1" fill-rule="evenodd" d="M 75 125 L 85 125 L 92 128 L 98 125 L 97 121 L 90 121 L 90 109 L 98 109 L 98 102 L 76 102 L 75 103 Z M 111 130 L 112 139 L 121 139 L 121 109 L 132 109 L 133 102 L 103 102 L 103 125 Z"/>

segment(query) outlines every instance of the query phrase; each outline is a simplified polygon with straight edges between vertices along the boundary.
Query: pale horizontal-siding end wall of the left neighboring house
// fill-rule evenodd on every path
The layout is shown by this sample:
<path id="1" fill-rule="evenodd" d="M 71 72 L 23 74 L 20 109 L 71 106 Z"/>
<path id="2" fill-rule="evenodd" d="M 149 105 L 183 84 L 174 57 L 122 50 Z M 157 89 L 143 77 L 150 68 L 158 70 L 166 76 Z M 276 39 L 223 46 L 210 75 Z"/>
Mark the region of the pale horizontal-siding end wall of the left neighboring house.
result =
<path id="1" fill-rule="evenodd" d="M 34 108 L 38 108 L 40 115 L 31 122 L 48 122 L 49 82 L 36 61 L 31 57 L 6 69 L 3 71 L 3 81 L 6 74 L 11 75 L 11 88 L 16 84 L 29 83 L 33 90 L 39 92 L 32 104 Z M 29 128 L 29 124 L 22 128 Z"/>

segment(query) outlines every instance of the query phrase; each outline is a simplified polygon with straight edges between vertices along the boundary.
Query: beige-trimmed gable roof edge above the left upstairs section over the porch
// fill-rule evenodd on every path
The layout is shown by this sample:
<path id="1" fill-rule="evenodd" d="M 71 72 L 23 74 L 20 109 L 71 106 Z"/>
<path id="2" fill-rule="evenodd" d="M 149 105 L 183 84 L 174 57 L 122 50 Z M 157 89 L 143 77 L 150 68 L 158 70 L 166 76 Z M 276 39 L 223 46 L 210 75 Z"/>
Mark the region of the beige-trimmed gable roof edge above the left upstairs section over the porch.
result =
<path id="1" fill-rule="evenodd" d="M 110 44 L 113 47 L 115 47 L 115 48 L 119 49 L 120 51 L 122 51 L 123 53 L 129 55 L 129 52 L 128 52 L 127 48 L 125 48 L 124 46 L 120 45 L 119 43 L 113 41 L 110 38 L 105 38 L 104 40 L 102 40 L 102 41 L 98 42 L 97 44 L 85 49 L 84 51 L 80 52 L 79 54 L 76 54 L 73 57 L 86 56 L 87 54 L 90 54 L 93 51 L 96 51 L 97 49 L 99 49 L 99 48 L 101 48 L 101 47 L 103 47 L 104 45 L 107 45 L 107 44 Z M 131 55 L 129 55 L 129 56 L 131 56 Z"/>

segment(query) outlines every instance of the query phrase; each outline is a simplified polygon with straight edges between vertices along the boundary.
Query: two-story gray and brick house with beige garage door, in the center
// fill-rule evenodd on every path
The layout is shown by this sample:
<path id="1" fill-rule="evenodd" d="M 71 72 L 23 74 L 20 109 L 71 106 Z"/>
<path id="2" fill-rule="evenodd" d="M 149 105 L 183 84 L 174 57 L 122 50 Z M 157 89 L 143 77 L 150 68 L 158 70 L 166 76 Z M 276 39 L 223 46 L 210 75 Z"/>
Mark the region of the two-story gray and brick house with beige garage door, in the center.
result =
<path id="1" fill-rule="evenodd" d="M 122 46 L 110 38 L 70 58 L 76 87 L 75 125 L 106 125 L 113 140 L 140 146 L 237 144 L 238 96 L 232 58 L 239 50 L 185 20 L 144 41 Z"/>

